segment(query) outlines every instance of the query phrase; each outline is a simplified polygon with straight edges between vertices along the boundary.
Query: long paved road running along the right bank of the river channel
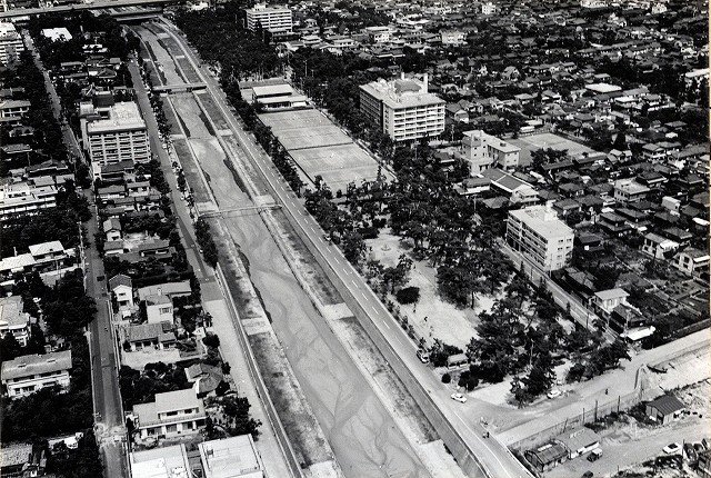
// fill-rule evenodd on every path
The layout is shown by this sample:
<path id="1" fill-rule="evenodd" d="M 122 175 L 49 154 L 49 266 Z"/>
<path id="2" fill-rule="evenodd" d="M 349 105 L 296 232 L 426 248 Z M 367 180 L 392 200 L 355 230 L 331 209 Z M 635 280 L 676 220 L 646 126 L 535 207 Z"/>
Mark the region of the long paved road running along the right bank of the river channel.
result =
<path id="1" fill-rule="evenodd" d="M 173 37 L 183 46 L 187 57 L 194 66 L 197 61 L 192 52 L 184 47 L 182 38 L 178 34 L 173 34 Z M 493 437 L 489 439 L 483 438 L 484 429 L 479 424 L 480 415 L 464 415 L 461 404 L 450 399 L 450 390 L 442 386 L 438 377 L 435 377 L 429 368 L 420 364 L 414 353 L 415 347 L 410 338 L 398 326 L 362 277 L 360 277 L 343 258 L 340 250 L 323 240 L 323 231 L 320 226 L 310 215 L 304 212 L 301 201 L 293 195 L 279 172 L 274 170 L 271 160 L 256 146 L 253 137 L 247 135 L 237 123 L 232 114 L 230 114 L 226 108 L 228 102 L 224 93 L 219 88 L 216 79 L 204 72 L 202 72 L 201 76 L 208 84 L 208 90 L 214 98 L 219 99 L 218 106 L 230 122 L 232 130 L 237 133 L 243 150 L 248 153 L 249 159 L 262 173 L 267 182 L 272 187 L 276 199 L 283 206 L 284 212 L 296 218 L 303 236 L 316 246 L 318 252 L 323 256 L 330 267 L 340 276 L 351 295 L 361 300 L 361 305 L 363 309 L 368 311 L 370 319 L 385 336 L 395 351 L 399 352 L 402 360 L 408 365 L 420 384 L 428 390 L 431 390 L 431 397 L 437 406 L 444 412 L 457 431 L 464 437 L 469 446 L 475 450 L 478 458 L 483 462 L 483 466 L 490 470 L 491 476 L 497 478 L 529 476 L 528 471 L 505 447 L 499 444 Z"/>

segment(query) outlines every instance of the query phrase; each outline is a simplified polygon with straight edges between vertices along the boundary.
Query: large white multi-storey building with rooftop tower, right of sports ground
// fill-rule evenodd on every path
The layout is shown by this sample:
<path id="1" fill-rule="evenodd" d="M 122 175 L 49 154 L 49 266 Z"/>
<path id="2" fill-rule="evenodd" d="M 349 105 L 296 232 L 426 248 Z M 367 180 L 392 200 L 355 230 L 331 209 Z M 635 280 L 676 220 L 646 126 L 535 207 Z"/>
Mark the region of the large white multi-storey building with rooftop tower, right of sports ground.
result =
<path id="1" fill-rule="evenodd" d="M 444 131 L 445 102 L 428 93 L 428 76 L 422 81 L 379 80 L 360 87 L 360 109 L 394 141 L 437 137 Z"/>

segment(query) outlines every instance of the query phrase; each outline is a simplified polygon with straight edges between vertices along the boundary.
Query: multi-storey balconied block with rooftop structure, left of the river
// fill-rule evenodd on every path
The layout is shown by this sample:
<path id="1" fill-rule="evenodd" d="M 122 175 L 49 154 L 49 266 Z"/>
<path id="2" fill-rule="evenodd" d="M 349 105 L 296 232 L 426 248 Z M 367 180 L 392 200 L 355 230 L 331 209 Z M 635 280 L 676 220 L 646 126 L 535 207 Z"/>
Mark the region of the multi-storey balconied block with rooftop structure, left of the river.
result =
<path id="1" fill-rule="evenodd" d="M 101 168 L 109 165 L 150 161 L 148 131 L 138 104 L 132 101 L 118 102 L 103 112 L 106 117 L 88 120 L 82 128 L 94 179 L 100 179 Z"/>

